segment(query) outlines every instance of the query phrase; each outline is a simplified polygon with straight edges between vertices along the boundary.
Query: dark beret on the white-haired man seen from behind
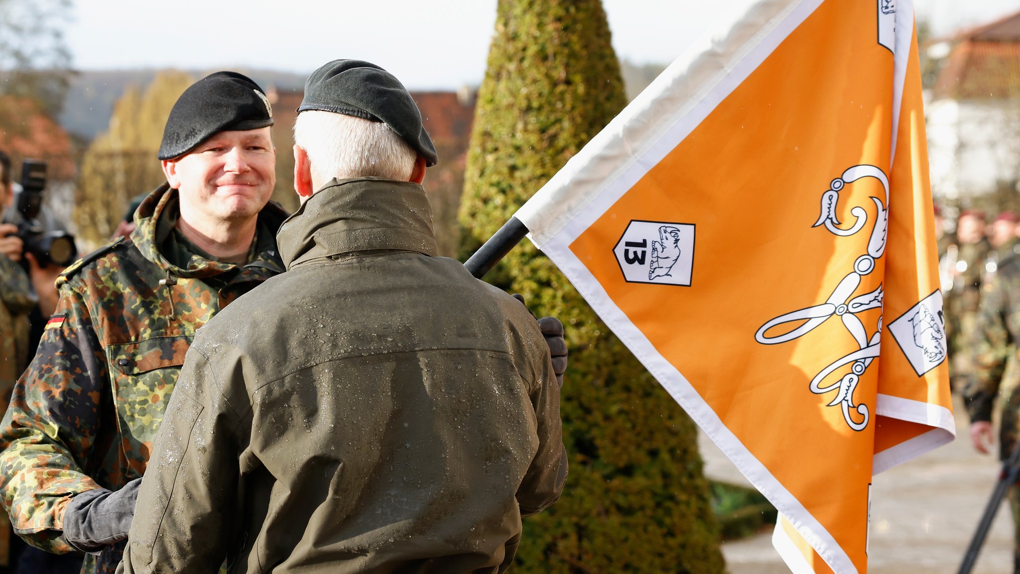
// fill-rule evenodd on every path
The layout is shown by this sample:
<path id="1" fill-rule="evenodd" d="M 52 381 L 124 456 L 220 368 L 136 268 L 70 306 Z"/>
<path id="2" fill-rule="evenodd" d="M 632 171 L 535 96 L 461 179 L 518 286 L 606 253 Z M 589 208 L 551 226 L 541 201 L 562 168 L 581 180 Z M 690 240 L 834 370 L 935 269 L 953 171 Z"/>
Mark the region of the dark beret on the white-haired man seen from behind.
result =
<path id="1" fill-rule="evenodd" d="M 373 63 L 333 60 L 313 71 L 298 112 L 310 109 L 382 122 L 417 150 L 426 164 L 439 161 L 411 94 L 394 75 Z"/>

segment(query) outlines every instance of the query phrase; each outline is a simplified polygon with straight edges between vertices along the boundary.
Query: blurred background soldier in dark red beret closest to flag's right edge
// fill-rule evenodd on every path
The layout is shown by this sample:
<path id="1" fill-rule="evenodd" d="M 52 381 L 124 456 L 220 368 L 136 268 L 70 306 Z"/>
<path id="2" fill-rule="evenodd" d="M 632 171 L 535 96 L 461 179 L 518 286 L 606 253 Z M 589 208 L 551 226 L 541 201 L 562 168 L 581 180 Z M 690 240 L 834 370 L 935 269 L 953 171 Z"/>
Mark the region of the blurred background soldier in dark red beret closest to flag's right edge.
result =
<path id="1" fill-rule="evenodd" d="M 960 390 L 972 366 L 970 340 L 977 321 L 981 278 L 991 246 L 984 235 L 984 212 L 968 209 L 957 220 L 957 254 L 949 273 L 952 288 L 946 294 L 946 331 L 949 336 L 950 380 Z M 952 254 L 953 246 L 948 248 Z"/>

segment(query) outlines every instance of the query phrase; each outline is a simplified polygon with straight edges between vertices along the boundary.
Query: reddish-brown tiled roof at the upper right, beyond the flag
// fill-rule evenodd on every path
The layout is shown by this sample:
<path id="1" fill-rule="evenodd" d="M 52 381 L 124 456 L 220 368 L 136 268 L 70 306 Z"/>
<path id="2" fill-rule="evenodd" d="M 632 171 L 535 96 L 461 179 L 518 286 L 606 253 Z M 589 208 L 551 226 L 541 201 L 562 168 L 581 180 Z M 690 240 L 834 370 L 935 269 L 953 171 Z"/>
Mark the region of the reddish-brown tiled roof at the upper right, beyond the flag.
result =
<path id="1" fill-rule="evenodd" d="M 1020 12 L 967 30 L 934 84 L 935 99 L 1020 98 Z"/>

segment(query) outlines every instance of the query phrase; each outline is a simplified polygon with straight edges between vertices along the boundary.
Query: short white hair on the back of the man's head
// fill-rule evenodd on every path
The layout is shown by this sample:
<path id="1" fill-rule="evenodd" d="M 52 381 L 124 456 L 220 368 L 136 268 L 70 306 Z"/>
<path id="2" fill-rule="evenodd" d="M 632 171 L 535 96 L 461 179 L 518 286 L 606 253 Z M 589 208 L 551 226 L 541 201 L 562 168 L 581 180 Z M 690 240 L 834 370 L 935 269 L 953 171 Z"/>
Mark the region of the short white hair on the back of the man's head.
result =
<path id="1" fill-rule="evenodd" d="M 305 150 L 312 175 L 408 181 L 418 152 L 389 126 L 332 111 L 308 110 L 294 122 L 294 143 Z"/>

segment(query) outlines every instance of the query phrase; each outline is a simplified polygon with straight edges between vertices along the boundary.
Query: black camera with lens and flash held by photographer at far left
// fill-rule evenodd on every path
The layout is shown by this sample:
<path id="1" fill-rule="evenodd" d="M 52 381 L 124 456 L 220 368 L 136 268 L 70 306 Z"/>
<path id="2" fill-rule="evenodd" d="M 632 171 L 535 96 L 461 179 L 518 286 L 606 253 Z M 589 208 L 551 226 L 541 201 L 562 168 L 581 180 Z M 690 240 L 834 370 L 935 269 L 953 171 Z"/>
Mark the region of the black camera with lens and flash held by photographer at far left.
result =
<path id="1" fill-rule="evenodd" d="M 21 162 L 21 193 L 17 197 L 17 210 L 21 221 L 17 236 L 24 250 L 32 253 L 40 266 L 67 267 L 78 255 L 74 237 L 66 231 L 46 231 L 39 222 L 43 207 L 43 190 L 46 189 L 46 162 L 26 159 Z"/>

